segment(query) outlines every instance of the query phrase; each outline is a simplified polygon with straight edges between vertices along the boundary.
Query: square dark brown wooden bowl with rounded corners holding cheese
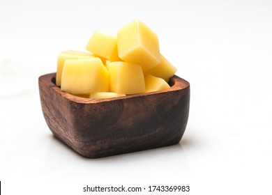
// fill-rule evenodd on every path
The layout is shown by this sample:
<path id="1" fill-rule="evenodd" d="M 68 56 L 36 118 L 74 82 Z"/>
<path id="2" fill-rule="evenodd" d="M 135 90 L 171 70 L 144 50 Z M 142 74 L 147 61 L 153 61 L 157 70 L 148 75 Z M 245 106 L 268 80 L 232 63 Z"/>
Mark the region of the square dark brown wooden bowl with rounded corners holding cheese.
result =
<path id="1" fill-rule="evenodd" d="M 61 91 L 56 74 L 39 77 L 40 102 L 55 137 L 84 157 L 170 146 L 186 129 L 190 84 L 176 75 L 165 91 L 89 99 Z"/>

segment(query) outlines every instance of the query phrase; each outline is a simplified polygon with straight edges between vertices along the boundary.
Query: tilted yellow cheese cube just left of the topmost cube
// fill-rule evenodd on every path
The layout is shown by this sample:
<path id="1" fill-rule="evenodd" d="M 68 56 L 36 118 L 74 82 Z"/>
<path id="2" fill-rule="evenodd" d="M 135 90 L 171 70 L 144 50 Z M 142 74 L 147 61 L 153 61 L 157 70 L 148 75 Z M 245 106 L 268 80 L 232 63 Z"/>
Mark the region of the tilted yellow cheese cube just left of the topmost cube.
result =
<path id="1" fill-rule="evenodd" d="M 97 30 L 91 36 L 86 50 L 109 61 L 121 61 L 118 57 L 116 36 Z"/>

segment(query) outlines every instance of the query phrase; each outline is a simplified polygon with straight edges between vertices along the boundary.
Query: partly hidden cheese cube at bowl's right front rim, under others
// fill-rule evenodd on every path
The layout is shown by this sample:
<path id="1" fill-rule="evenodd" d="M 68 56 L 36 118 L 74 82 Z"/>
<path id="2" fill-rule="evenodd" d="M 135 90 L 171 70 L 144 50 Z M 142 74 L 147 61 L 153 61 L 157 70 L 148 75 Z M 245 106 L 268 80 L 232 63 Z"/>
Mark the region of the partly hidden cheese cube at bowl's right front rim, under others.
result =
<path id="1" fill-rule="evenodd" d="M 165 90 L 167 88 L 170 88 L 169 84 L 167 82 L 159 77 L 154 77 L 152 75 L 146 75 L 144 77 L 144 80 L 146 82 L 146 91 L 145 93 L 149 93 L 152 91 L 161 91 Z"/>

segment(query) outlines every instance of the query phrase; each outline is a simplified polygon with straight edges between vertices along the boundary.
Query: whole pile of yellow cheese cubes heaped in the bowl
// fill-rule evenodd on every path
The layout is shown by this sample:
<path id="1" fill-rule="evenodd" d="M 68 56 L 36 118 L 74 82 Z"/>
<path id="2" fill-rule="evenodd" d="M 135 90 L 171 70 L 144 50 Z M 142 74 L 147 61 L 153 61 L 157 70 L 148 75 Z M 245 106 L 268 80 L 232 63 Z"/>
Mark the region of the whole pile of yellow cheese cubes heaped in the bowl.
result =
<path id="1" fill-rule="evenodd" d="M 114 98 L 169 88 L 176 68 L 160 54 L 158 36 L 135 20 L 117 36 L 97 30 L 88 52 L 69 50 L 58 58 L 56 85 L 85 98 Z"/>

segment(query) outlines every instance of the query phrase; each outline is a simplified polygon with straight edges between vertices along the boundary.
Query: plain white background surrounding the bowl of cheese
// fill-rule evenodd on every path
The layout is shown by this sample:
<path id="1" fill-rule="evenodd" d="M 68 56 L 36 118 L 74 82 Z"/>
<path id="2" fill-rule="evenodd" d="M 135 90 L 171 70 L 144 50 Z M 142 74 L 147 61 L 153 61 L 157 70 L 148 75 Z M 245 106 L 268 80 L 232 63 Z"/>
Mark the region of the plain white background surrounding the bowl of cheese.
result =
<path id="1" fill-rule="evenodd" d="M 135 19 L 190 81 L 186 132 L 176 146 L 80 157 L 47 127 L 38 77 L 56 71 L 59 52 L 84 51 L 96 29 L 116 33 Z M 272 1 L 0 0 L 1 191 L 190 185 L 187 194 L 271 194 L 271 65 Z"/>

